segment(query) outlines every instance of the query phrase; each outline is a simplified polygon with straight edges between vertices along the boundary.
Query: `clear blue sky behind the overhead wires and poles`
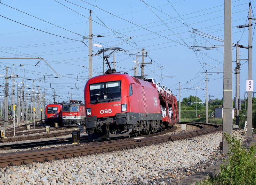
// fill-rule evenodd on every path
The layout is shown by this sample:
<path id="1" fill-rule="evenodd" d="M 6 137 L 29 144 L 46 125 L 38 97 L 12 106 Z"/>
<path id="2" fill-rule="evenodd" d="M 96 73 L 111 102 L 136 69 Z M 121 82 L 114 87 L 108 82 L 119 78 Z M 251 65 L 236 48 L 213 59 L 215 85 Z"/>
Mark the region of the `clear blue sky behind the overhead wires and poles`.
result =
<path id="1" fill-rule="evenodd" d="M 251 0 L 251 3 L 256 16 L 256 1 Z M 248 28 L 238 29 L 236 26 L 248 24 L 248 8 L 249 0 L 232 1 L 232 41 L 239 41 L 244 46 L 248 46 Z M 224 1 L 1 0 L 0 10 L 0 57 L 43 57 L 61 78 L 55 78 L 57 75 L 44 61 L 35 66 L 38 60 L 2 59 L 0 74 L 5 75 L 5 67 L 9 67 L 9 73 L 19 75 L 15 79 L 17 82 L 24 79 L 27 88 L 33 85 L 29 79 L 35 79 L 36 86 L 45 88 L 49 102 L 54 89 L 60 96 L 58 101 L 69 100 L 71 91 L 72 99 L 84 100 L 83 90 L 88 79 L 88 41 L 82 41 L 83 36 L 89 34 L 89 10 L 92 10 L 93 35 L 104 36 L 94 36 L 92 43 L 104 48 L 115 46 L 129 51 L 116 53 L 117 71 L 128 72 L 133 76 L 133 61 L 138 55 L 136 52 L 145 48 L 148 51 L 145 62 L 152 60 L 152 64 L 146 65 L 145 74 L 171 88 L 175 95 L 179 95 L 179 82 L 183 88 L 181 98 L 195 96 L 198 86 L 205 89 L 204 71 L 207 70 L 208 95 L 211 94 L 213 99 L 223 96 L 223 48 L 195 51 L 190 47 L 223 45 L 223 42 L 192 31 L 197 29 L 224 39 Z M 255 23 L 252 23 L 254 32 Z M 98 49 L 93 47 L 93 53 Z M 248 57 L 247 49 L 240 48 L 240 51 L 241 58 Z M 255 57 L 252 58 L 254 74 Z M 102 56 L 93 56 L 93 76 L 102 74 L 102 60 Z M 236 48 L 233 49 L 232 60 L 236 61 Z M 109 61 L 113 61 L 112 56 Z M 247 64 L 247 61 L 241 61 L 242 99 L 246 89 Z M 4 85 L 3 77 L 0 82 Z M 11 81 L 9 83 L 12 84 Z M 2 90 L 0 95 L 3 94 Z M 197 90 L 200 99 L 204 100 L 204 94 L 204 90 Z"/>

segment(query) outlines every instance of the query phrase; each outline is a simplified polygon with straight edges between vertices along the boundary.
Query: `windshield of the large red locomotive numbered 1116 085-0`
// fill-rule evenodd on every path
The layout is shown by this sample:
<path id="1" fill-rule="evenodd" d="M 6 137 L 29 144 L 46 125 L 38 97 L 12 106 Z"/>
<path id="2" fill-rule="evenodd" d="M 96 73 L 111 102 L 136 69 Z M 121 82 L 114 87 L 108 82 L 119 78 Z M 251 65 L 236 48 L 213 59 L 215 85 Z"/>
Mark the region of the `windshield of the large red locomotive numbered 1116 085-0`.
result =
<path id="1" fill-rule="evenodd" d="M 91 102 L 102 100 L 119 100 L 121 98 L 121 81 L 102 82 L 90 85 Z"/>

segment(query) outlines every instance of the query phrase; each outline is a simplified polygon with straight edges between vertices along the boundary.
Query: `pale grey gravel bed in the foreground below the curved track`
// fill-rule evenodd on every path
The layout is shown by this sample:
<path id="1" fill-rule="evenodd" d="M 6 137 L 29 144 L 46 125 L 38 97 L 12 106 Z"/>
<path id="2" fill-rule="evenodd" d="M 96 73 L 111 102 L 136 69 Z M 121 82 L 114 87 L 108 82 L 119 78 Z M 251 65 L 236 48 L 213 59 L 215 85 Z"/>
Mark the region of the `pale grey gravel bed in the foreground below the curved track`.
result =
<path id="1" fill-rule="evenodd" d="M 239 131 L 233 134 L 241 137 Z M 173 184 L 223 155 L 222 131 L 79 158 L 0 169 L 6 184 Z M 213 160 L 214 159 L 214 160 Z"/>

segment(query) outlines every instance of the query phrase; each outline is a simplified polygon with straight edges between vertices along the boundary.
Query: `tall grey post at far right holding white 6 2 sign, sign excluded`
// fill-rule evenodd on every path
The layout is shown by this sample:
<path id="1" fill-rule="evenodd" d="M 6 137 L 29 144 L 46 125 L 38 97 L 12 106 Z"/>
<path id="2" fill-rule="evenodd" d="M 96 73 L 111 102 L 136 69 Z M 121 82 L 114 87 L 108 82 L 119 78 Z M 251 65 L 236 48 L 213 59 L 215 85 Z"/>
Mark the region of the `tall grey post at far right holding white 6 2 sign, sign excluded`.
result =
<path id="1" fill-rule="evenodd" d="M 252 9 L 249 4 L 248 80 L 252 80 Z M 247 137 L 252 137 L 252 92 L 247 94 Z"/>

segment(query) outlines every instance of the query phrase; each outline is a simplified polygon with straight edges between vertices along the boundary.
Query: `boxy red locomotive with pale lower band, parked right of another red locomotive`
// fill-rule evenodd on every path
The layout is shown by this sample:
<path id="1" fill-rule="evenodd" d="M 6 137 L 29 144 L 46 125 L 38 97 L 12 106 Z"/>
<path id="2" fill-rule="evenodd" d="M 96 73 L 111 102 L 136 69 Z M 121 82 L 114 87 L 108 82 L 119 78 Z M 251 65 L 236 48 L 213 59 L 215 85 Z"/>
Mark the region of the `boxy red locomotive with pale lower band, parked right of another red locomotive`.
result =
<path id="1" fill-rule="evenodd" d="M 63 126 L 84 125 L 85 107 L 82 101 L 70 100 L 70 103 L 65 103 L 62 107 Z"/>

